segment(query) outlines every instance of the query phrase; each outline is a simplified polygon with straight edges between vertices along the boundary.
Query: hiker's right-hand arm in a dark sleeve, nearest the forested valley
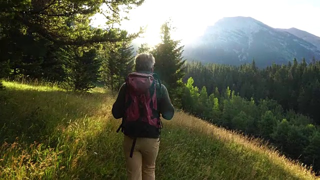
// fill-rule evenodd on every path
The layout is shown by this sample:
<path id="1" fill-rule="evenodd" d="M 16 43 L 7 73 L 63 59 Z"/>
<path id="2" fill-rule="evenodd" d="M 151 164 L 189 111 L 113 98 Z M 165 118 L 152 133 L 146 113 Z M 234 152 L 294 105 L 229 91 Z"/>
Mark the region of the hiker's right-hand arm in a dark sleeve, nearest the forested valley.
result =
<path id="1" fill-rule="evenodd" d="M 161 116 L 166 120 L 171 120 L 174 115 L 174 107 L 171 103 L 168 91 L 166 87 L 161 84 L 161 100 L 160 100 L 160 113 Z"/>

